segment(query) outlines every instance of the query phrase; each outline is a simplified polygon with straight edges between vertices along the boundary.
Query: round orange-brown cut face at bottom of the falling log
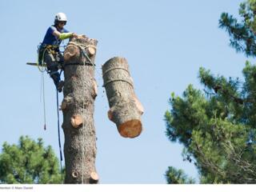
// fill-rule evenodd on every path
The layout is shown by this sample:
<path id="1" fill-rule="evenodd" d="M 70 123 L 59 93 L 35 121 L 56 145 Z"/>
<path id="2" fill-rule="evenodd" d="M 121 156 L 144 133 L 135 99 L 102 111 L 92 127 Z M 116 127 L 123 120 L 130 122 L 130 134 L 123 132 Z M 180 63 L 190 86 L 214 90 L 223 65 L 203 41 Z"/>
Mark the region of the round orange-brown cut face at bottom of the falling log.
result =
<path id="1" fill-rule="evenodd" d="M 124 122 L 118 126 L 118 131 L 124 138 L 136 138 L 142 133 L 142 122 L 138 119 Z"/>

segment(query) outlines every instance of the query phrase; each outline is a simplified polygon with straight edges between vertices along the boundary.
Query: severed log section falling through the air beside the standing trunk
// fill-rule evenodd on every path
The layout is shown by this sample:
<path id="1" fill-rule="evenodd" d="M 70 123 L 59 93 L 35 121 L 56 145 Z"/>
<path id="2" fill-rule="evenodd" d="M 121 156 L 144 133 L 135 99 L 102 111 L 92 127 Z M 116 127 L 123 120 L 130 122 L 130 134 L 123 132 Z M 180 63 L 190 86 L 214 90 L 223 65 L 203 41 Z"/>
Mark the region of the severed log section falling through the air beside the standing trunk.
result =
<path id="1" fill-rule="evenodd" d="M 102 66 L 102 74 L 110 106 L 108 117 L 122 137 L 137 137 L 142 132 L 143 106 L 134 94 L 126 58 L 110 58 Z"/>

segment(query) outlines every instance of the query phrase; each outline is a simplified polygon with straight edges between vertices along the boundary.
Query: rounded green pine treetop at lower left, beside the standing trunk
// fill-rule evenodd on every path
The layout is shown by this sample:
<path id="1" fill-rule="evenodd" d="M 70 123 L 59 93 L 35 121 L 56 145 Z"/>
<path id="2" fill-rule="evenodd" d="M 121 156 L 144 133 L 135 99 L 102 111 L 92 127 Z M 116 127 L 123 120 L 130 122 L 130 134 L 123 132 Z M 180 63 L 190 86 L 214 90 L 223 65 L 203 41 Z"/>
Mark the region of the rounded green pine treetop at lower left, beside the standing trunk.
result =
<path id="1" fill-rule="evenodd" d="M 28 136 L 18 145 L 5 142 L 0 154 L 0 183 L 45 184 L 62 183 L 58 158 L 51 146 L 44 147 L 42 138 L 35 142 Z"/>

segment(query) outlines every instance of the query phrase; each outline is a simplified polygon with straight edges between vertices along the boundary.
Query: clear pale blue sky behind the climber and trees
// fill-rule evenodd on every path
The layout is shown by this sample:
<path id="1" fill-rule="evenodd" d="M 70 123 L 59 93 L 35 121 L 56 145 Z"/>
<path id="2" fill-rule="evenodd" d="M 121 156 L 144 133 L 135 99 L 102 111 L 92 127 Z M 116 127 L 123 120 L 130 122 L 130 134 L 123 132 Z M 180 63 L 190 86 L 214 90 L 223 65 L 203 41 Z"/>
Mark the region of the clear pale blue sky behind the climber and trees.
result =
<path id="1" fill-rule="evenodd" d="M 58 155 L 54 84 L 45 74 L 47 130 L 43 130 L 42 76 L 26 62 L 36 60 L 38 43 L 53 24 L 54 14 L 64 12 L 68 18 L 66 29 L 98 39 L 94 122 L 100 182 L 166 183 L 167 166 L 198 178 L 195 167 L 182 161 L 182 146 L 166 138 L 163 115 L 170 109 L 171 92 L 181 95 L 190 83 L 202 89 L 198 81 L 200 66 L 214 74 L 242 77 L 246 57 L 229 46 L 228 35 L 218 28 L 222 12 L 237 15 L 240 2 L 1 1 L 0 145 L 17 143 L 21 135 L 29 135 L 43 138 Z M 135 93 L 145 108 L 144 130 L 138 138 L 122 138 L 107 118 L 109 106 L 101 66 L 114 56 L 128 60 Z"/>

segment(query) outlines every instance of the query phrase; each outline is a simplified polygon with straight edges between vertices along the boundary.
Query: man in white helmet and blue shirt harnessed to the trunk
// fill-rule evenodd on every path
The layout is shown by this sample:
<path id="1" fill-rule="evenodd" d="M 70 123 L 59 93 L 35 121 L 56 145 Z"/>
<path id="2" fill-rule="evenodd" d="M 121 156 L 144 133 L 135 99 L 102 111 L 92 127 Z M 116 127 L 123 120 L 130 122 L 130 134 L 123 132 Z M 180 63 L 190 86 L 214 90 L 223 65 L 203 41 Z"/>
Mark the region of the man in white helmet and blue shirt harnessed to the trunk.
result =
<path id="1" fill-rule="evenodd" d="M 46 63 L 48 73 L 53 78 L 58 92 L 62 92 L 62 87 L 64 86 L 64 82 L 61 81 L 60 73 L 58 72 L 58 66 L 64 62 L 59 45 L 63 39 L 78 38 L 77 34 L 70 33 L 64 28 L 66 21 L 66 14 L 58 13 L 55 15 L 54 25 L 50 26 L 46 31 L 46 35 L 38 50 L 38 62 L 39 64 L 43 64 L 42 62 Z"/>

